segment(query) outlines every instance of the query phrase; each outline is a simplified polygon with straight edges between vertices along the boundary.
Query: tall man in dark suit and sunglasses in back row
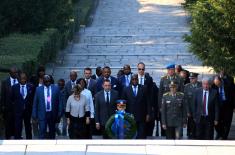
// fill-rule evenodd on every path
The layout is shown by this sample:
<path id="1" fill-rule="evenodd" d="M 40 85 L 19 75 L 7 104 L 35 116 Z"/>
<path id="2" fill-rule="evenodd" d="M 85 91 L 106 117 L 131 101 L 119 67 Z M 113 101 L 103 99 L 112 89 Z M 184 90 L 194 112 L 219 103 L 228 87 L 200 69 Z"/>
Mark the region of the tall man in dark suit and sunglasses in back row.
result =
<path id="1" fill-rule="evenodd" d="M 146 134 L 147 136 L 152 136 L 153 135 L 153 129 L 155 125 L 154 121 L 154 105 L 153 105 L 153 79 L 152 77 L 145 72 L 145 64 L 143 62 L 139 62 L 137 65 L 138 69 L 138 83 L 140 85 L 143 85 L 144 89 L 147 91 L 146 93 L 148 94 L 148 98 L 150 101 L 150 106 L 151 106 L 151 117 L 149 122 L 146 123 Z"/>

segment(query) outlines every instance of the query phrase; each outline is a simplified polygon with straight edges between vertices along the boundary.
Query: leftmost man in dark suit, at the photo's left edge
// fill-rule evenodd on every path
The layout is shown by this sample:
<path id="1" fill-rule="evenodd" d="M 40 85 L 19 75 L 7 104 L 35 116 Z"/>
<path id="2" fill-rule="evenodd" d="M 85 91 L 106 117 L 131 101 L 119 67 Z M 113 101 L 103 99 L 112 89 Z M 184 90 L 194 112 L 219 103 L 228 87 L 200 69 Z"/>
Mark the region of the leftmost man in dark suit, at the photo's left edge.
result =
<path id="1" fill-rule="evenodd" d="M 18 83 L 18 70 L 15 67 L 10 69 L 10 77 L 1 84 L 1 109 L 5 122 L 5 138 L 14 136 L 14 106 L 11 100 L 12 86 Z"/>

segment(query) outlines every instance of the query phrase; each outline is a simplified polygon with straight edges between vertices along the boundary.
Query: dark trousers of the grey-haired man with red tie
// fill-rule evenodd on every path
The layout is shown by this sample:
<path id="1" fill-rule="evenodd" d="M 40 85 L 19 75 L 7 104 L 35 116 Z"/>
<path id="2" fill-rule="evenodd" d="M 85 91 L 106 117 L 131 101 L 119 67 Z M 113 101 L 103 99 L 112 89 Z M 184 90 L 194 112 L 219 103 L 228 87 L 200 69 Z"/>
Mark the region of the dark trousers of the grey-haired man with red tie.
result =
<path id="1" fill-rule="evenodd" d="M 196 139 L 214 139 L 214 122 L 211 122 L 208 116 L 201 116 L 200 122 L 196 124 Z"/>

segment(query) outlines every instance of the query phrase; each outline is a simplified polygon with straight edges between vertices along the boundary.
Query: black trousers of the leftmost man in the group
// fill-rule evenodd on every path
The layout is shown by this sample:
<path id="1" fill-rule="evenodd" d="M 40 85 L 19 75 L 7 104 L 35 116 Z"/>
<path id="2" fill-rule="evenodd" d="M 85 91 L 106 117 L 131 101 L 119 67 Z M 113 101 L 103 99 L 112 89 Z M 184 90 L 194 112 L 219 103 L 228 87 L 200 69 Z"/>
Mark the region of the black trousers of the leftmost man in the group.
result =
<path id="1" fill-rule="evenodd" d="M 4 124 L 5 124 L 5 138 L 10 139 L 15 135 L 15 121 L 14 121 L 14 111 L 13 108 L 11 110 L 4 111 Z"/>

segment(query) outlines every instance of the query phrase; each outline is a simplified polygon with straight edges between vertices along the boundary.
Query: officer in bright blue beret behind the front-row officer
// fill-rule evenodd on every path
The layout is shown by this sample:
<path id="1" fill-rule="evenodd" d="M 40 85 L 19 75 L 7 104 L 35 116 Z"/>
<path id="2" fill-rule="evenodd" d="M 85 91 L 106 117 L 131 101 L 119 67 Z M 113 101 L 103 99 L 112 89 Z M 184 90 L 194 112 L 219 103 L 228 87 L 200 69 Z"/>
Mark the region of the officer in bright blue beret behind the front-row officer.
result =
<path id="1" fill-rule="evenodd" d="M 163 76 L 160 80 L 160 87 L 159 87 L 159 94 L 158 94 L 158 107 L 161 113 L 161 103 L 162 103 L 162 96 L 164 93 L 170 91 L 169 84 L 171 81 L 177 82 L 177 91 L 183 92 L 184 89 L 184 81 L 183 79 L 175 73 L 175 64 L 169 64 L 166 67 L 167 74 Z M 161 115 L 160 115 L 161 117 Z M 160 118 L 161 121 L 161 118 Z M 162 122 L 161 122 L 162 124 Z M 165 130 L 161 128 L 161 136 L 165 136 Z"/>

